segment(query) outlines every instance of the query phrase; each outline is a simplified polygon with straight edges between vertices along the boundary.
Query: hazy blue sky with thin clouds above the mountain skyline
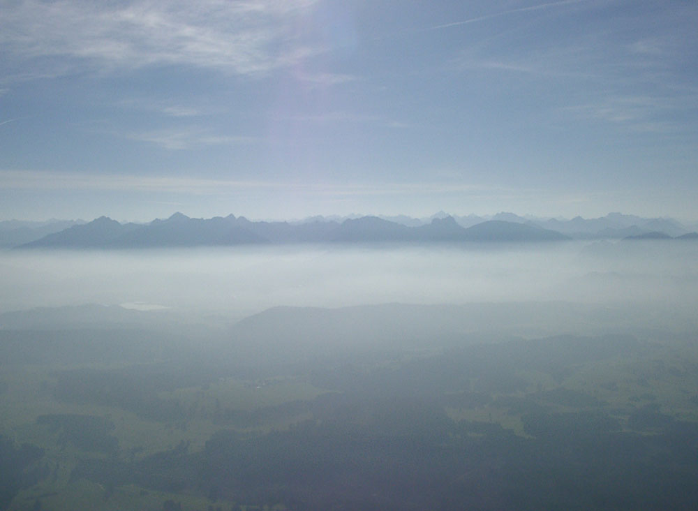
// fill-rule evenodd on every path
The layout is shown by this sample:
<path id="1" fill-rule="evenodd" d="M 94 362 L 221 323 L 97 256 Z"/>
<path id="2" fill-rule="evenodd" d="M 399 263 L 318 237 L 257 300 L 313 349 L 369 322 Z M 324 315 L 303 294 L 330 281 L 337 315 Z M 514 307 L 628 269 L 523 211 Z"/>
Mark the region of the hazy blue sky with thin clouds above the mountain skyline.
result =
<path id="1" fill-rule="evenodd" d="M 0 0 L 0 219 L 698 220 L 698 3 Z"/>

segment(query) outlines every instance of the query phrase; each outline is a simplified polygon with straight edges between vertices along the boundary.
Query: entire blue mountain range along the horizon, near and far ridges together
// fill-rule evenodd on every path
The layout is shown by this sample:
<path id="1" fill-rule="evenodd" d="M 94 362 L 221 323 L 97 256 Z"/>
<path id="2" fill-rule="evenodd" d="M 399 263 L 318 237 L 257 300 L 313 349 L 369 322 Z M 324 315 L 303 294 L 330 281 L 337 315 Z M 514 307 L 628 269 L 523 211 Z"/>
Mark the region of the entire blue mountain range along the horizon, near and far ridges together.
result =
<path id="1" fill-rule="evenodd" d="M 643 219 L 611 213 L 598 219 L 533 219 L 513 213 L 489 218 L 450 216 L 315 216 L 305 221 L 250 221 L 244 216 L 190 218 L 175 213 L 149 223 L 119 223 L 101 216 L 89 223 L 50 223 L 43 235 L 20 242 L 21 248 L 132 249 L 290 243 L 462 243 L 552 242 L 565 239 L 664 239 L 698 237 L 674 219 Z M 59 230 L 60 227 L 65 227 Z M 7 232 L 2 231 L 1 232 Z M 39 236 L 40 234 L 40 236 Z M 24 240 L 22 240 L 24 241 Z"/>

